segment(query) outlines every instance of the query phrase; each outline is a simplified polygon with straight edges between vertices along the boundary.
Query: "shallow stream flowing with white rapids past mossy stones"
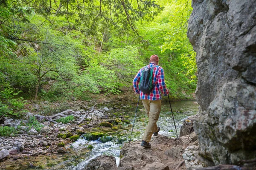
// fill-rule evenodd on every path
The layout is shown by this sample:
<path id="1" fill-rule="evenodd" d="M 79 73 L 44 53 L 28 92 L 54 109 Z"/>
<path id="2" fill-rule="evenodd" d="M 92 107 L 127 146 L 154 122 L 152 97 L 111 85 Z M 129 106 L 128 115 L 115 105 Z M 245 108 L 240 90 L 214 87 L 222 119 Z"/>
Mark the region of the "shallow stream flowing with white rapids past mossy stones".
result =
<path id="1" fill-rule="evenodd" d="M 9 160 L 1 162 L 5 164 L 6 170 L 25 170 L 25 169 L 49 169 L 49 170 L 81 170 L 91 159 L 99 155 L 112 155 L 116 158 L 116 164 L 119 164 L 119 153 L 123 142 L 128 142 L 131 136 L 131 128 L 136 111 L 136 105 L 124 108 L 125 116 L 129 116 L 130 124 L 124 125 L 118 130 L 103 128 L 101 132 L 108 132 L 113 140 L 102 143 L 98 140 L 88 141 L 81 136 L 76 142 L 67 148 L 68 153 L 40 155 L 37 157 L 24 158 L 19 160 Z M 198 104 L 195 101 L 172 102 L 172 111 L 174 113 L 177 134 L 180 133 L 180 127 L 183 121 L 198 112 Z M 143 132 L 147 125 L 148 118 L 145 114 L 143 105 L 139 105 L 137 117 L 135 120 L 132 140 L 141 140 Z M 169 103 L 162 105 L 157 125 L 161 128 L 159 134 L 169 137 L 176 137 L 176 130 L 172 118 L 172 112 Z M 87 147 L 93 146 L 92 150 Z M 33 164 L 33 167 L 30 167 Z M 1 167 L 0 167 L 1 169 Z"/>

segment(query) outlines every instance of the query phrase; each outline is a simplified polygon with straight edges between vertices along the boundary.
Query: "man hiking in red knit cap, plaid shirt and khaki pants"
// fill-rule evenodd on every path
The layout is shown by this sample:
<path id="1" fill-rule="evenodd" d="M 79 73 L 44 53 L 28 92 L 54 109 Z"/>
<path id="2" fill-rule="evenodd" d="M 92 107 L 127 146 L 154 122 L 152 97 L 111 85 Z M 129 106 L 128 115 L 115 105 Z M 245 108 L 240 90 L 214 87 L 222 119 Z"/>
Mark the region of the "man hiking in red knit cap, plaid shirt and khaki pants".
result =
<path id="1" fill-rule="evenodd" d="M 136 94 L 140 94 L 140 99 L 142 100 L 145 112 L 148 115 L 148 125 L 143 135 L 143 141 L 141 143 L 141 146 L 143 147 L 151 147 L 149 142 L 151 140 L 152 134 L 157 136 L 158 132 L 160 131 L 160 127 L 157 127 L 157 120 L 161 111 L 162 97 L 160 91 L 164 94 L 164 96 L 169 94 L 169 90 L 166 88 L 166 84 L 164 82 L 163 68 L 158 65 L 158 61 L 159 58 L 157 55 L 152 55 L 150 57 L 148 68 L 154 66 L 152 81 L 153 85 L 155 85 L 150 93 L 144 94 L 139 89 L 140 77 L 144 68 L 140 69 L 140 71 L 134 77 L 133 81 L 134 91 Z"/>

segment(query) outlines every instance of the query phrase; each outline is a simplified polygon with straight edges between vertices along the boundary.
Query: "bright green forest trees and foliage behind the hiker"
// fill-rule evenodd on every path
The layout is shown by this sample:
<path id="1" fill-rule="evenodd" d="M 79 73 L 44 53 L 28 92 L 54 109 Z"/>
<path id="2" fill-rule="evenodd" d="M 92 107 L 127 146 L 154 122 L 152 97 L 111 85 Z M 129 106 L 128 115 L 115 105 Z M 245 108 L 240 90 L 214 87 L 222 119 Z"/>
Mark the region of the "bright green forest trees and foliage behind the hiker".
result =
<path id="1" fill-rule="evenodd" d="M 191 11 L 187 0 L 0 0 L 0 114 L 20 111 L 25 96 L 131 92 L 152 54 L 172 99 L 192 98 Z"/>

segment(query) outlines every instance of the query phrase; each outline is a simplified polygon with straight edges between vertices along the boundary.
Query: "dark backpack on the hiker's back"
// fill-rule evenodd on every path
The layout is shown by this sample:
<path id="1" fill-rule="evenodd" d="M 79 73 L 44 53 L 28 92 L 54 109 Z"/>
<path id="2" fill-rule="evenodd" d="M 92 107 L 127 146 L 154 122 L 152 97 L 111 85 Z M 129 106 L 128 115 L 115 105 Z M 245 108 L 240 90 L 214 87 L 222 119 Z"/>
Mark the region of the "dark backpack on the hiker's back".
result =
<path id="1" fill-rule="evenodd" d="M 140 76 L 140 91 L 142 91 L 144 94 L 150 93 L 154 86 L 152 82 L 153 77 L 153 71 L 154 71 L 155 65 L 153 67 L 148 68 L 148 66 L 145 66 L 142 70 L 142 74 Z"/>

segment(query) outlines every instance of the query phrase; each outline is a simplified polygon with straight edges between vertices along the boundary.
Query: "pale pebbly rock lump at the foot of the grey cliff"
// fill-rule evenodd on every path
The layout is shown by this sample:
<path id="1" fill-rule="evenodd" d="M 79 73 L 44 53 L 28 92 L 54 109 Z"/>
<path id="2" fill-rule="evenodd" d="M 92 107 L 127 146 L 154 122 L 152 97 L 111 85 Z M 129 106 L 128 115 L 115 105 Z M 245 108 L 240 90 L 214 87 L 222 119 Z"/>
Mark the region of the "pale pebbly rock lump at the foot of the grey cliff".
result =
<path id="1" fill-rule="evenodd" d="M 192 145 L 185 149 L 183 159 L 185 159 L 186 170 L 195 170 L 202 167 L 212 166 L 213 162 L 199 156 L 199 147 Z"/>

